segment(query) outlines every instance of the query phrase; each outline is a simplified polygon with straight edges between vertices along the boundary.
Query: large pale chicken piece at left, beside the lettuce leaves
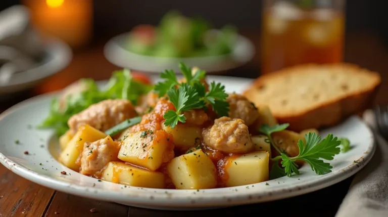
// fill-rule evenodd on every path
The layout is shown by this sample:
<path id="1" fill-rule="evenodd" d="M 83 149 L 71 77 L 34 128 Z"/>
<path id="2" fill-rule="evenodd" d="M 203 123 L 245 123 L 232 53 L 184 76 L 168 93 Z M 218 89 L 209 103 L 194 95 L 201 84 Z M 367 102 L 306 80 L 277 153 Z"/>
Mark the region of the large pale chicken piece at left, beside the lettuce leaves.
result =
<path id="1" fill-rule="evenodd" d="M 89 106 L 89 108 L 73 115 L 67 124 L 75 134 L 79 126 L 89 124 L 99 131 L 123 122 L 128 118 L 137 116 L 132 103 L 124 99 L 104 100 Z"/>

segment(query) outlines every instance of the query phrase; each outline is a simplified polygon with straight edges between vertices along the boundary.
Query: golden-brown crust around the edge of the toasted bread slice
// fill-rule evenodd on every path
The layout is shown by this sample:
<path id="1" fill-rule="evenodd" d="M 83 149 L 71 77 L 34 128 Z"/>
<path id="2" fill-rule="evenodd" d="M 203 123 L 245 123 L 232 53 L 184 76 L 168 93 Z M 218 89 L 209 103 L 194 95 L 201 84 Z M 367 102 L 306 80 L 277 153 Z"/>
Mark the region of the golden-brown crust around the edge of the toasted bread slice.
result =
<path id="1" fill-rule="evenodd" d="M 264 102 L 255 101 L 255 92 L 257 92 L 257 89 L 260 88 L 260 86 L 267 82 L 271 82 L 271 79 L 274 76 L 283 76 L 284 74 L 289 75 L 295 71 L 306 71 L 308 68 L 317 66 L 320 65 L 305 64 L 263 75 L 252 83 L 250 88 L 244 92 L 244 96 L 253 101 L 257 106 L 265 104 Z M 377 72 L 372 72 L 349 63 L 330 64 L 324 65 L 324 67 L 341 67 L 342 70 L 347 70 L 348 73 L 354 73 L 355 75 L 357 73 L 368 73 L 369 76 L 373 76 L 375 82 L 368 87 L 368 89 L 352 92 L 345 96 L 338 96 L 336 99 L 325 101 L 309 109 L 288 114 L 276 114 L 276 112 L 273 112 L 274 117 L 279 123 L 289 123 L 288 129 L 296 132 L 303 131 L 307 128 L 322 128 L 335 125 L 343 119 L 353 114 L 363 112 L 371 106 L 381 83 L 380 75 Z"/>

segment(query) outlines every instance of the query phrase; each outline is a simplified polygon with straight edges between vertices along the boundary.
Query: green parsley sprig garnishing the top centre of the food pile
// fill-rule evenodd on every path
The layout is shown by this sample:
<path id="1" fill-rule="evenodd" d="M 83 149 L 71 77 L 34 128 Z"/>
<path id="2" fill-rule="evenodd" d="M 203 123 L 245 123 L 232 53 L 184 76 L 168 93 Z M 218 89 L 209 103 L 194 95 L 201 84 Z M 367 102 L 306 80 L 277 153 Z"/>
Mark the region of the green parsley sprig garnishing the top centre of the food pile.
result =
<path id="1" fill-rule="evenodd" d="M 229 112 L 229 103 L 226 102 L 227 94 L 225 86 L 221 83 L 212 82 L 209 91 L 206 91 L 205 84 L 201 82 L 205 78 L 206 72 L 197 70 L 194 73 L 191 69 L 179 63 L 179 68 L 184 75 L 186 82 L 179 83 L 173 70 L 166 70 L 161 74 L 164 81 L 155 85 L 155 92 L 160 97 L 169 97 L 175 107 L 174 110 L 168 110 L 164 114 L 166 126 L 174 128 L 178 122 L 186 122 L 183 115 L 184 111 L 192 109 L 206 109 L 210 104 L 213 110 L 220 116 L 227 116 Z"/>

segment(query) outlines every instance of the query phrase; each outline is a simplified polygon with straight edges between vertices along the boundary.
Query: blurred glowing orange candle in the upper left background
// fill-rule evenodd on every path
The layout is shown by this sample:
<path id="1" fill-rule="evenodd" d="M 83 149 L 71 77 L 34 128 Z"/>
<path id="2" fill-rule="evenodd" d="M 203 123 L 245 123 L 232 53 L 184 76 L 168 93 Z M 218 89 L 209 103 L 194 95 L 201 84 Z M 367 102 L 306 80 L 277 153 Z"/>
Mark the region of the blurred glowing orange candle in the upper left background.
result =
<path id="1" fill-rule="evenodd" d="M 85 45 L 92 36 L 92 0 L 23 0 L 33 25 L 43 35 L 61 38 L 71 47 Z"/>

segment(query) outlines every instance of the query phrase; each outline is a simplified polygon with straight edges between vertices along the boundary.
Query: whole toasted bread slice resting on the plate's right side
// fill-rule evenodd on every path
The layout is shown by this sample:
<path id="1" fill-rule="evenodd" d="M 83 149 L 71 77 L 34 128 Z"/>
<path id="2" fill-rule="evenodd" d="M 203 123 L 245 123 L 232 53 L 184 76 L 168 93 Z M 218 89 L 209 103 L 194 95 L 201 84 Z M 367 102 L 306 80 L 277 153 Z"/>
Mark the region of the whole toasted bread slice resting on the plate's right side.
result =
<path id="1" fill-rule="evenodd" d="M 380 75 L 353 64 L 306 64 L 257 78 L 244 95 L 300 132 L 334 125 L 371 103 Z"/>

